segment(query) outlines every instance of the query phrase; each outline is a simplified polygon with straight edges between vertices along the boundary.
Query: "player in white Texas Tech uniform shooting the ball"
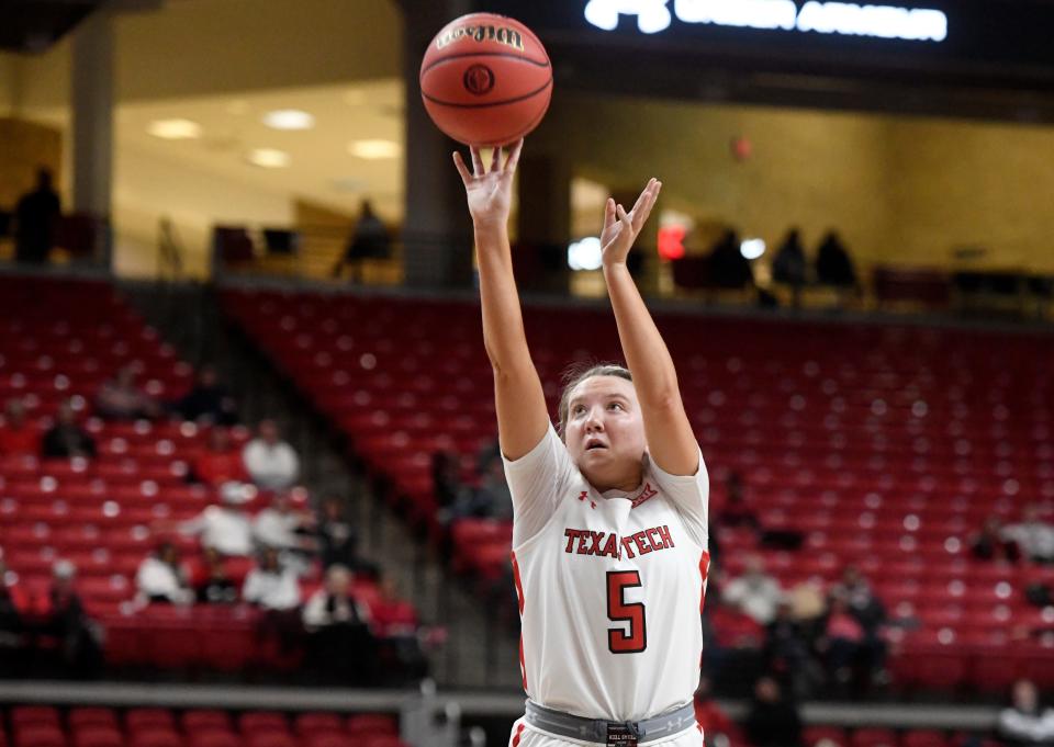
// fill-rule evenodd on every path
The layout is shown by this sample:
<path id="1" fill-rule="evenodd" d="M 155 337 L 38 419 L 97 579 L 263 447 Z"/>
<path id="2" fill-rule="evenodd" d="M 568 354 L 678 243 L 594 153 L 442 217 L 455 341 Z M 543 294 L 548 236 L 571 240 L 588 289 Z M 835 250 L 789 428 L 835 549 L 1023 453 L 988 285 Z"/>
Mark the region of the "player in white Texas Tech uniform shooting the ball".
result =
<path id="1" fill-rule="evenodd" d="M 706 468 L 673 361 L 626 268 L 662 184 L 608 200 L 604 279 L 628 370 L 569 384 L 560 428 L 524 335 L 507 222 L 523 140 L 490 168 L 460 154 L 479 252 L 483 340 L 513 495 L 513 573 L 528 701 L 514 747 L 700 747 L 692 694 L 709 563 Z M 582 330 L 587 338 L 588 329 Z"/>

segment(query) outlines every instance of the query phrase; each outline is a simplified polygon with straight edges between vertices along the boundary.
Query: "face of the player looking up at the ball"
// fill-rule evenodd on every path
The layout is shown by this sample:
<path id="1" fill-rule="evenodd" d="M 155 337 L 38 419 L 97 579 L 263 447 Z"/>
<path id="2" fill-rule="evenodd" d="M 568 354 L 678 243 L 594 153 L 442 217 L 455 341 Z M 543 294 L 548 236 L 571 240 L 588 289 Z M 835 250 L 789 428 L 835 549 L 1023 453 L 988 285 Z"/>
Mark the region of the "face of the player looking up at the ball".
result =
<path id="1" fill-rule="evenodd" d="M 597 488 L 637 487 L 647 443 L 632 382 L 591 376 L 575 386 L 564 441 L 571 459 Z"/>

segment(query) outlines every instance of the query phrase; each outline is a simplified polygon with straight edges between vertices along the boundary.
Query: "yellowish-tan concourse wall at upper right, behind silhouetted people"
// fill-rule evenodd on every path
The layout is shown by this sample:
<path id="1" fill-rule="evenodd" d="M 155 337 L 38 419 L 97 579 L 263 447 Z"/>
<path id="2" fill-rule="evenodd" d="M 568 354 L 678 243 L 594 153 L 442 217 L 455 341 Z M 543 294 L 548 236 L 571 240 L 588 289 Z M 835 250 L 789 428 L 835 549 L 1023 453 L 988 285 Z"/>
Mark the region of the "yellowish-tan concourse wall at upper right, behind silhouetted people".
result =
<path id="1" fill-rule="evenodd" d="M 745 161 L 729 142 L 750 139 Z M 1054 271 L 1054 127 L 714 106 L 575 94 L 554 102 L 530 147 L 568 148 L 575 172 L 612 189 L 663 179 L 663 204 L 725 222 L 774 248 L 837 228 L 873 263 Z"/>

